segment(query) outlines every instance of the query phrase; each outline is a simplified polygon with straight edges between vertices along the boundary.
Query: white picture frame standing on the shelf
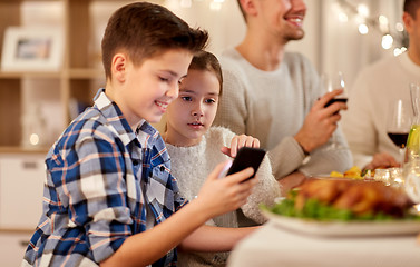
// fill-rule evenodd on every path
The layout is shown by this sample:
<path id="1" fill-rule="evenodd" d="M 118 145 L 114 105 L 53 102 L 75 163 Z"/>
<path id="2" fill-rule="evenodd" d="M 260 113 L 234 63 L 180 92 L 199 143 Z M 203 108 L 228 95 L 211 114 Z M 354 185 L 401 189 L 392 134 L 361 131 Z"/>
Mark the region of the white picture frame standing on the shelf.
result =
<path id="1" fill-rule="evenodd" d="M 64 40 L 59 28 L 8 27 L 1 55 L 2 71 L 58 71 Z"/>

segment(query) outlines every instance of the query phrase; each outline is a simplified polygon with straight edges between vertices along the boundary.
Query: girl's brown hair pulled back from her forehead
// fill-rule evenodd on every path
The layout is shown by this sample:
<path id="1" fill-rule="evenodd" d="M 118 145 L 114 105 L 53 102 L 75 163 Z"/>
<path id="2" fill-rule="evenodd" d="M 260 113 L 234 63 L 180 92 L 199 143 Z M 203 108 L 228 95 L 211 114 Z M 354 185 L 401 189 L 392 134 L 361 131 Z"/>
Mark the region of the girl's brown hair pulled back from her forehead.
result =
<path id="1" fill-rule="evenodd" d="M 199 51 L 193 57 L 188 69 L 207 70 L 213 72 L 216 76 L 221 88 L 218 95 L 222 95 L 223 75 L 221 63 L 218 62 L 216 56 L 207 51 Z"/>

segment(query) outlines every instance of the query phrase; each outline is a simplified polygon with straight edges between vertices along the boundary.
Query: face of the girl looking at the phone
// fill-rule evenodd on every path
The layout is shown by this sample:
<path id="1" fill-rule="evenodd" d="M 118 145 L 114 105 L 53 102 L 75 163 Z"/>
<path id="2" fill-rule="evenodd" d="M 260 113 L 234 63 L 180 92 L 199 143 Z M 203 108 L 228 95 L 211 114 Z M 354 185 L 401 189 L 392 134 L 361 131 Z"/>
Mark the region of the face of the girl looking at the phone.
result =
<path id="1" fill-rule="evenodd" d="M 180 147 L 199 144 L 216 116 L 219 87 L 213 72 L 188 70 L 178 98 L 167 109 L 167 142 Z"/>

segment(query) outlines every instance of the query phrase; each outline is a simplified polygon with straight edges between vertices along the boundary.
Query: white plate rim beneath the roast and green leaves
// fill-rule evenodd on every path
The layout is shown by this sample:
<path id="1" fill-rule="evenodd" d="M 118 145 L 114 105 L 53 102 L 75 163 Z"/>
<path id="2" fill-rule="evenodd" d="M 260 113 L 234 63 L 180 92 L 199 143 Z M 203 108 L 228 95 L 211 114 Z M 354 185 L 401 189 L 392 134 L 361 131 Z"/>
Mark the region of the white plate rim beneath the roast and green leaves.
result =
<path id="1" fill-rule="evenodd" d="M 394 236 L 420 233 L 420 220 L 320 221 L 285 217 L 266 209 L 262 211 L 267 219 L 281 228 L 315 236 Z"/>

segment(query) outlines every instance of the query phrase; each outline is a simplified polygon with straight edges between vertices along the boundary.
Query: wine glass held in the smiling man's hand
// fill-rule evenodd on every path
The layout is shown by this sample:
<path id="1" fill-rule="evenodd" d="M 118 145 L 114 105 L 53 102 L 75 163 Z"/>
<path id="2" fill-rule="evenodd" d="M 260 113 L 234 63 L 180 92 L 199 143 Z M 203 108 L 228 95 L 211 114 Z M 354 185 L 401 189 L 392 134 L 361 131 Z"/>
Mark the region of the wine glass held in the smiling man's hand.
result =
<path id="1" fill-rule="evenodd" d="M 321 76 L 321 88 L 324 90 L 325 93 L 332 92 L 333 90 L 336 89 L 342 89 L 343 92 L 335 96 L 333 99 L 326 102 L 325 108 L 329 107 L 330 105 L 334 102 L 346 102 L 349 99 L 349 91 L 345 88 L 345 81 L 344 81 L 344 76 L 341 71 L 338 71 L 333 75 L 328 75 L 323 73 Z M 339 111 L 336 111 L 338 113 Z M 326 148 L 329 150 L 335 150 L 335 149 L 348 149 L 348 147 L 342 146 L 338 140 L 336 140 L 336 130 L 332 134 L 332 142 L 331 145 Z"/>

